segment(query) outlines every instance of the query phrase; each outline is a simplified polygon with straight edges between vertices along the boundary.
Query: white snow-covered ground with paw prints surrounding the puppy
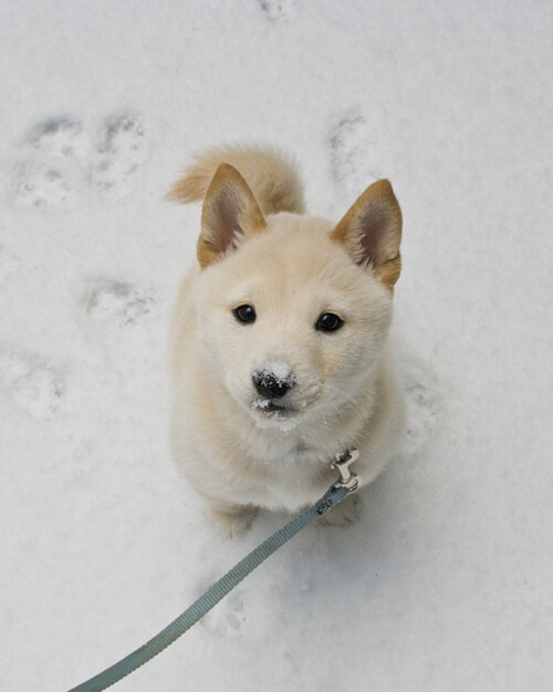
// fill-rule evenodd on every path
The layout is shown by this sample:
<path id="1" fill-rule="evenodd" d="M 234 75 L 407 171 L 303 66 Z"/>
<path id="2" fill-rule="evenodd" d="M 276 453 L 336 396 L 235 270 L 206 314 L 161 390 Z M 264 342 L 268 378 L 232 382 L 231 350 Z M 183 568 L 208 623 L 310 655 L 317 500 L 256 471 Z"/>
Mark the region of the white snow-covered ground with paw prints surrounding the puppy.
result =
<path id="1" fill-rule="evenodd" d="M 404 453 L 117 690 L 552 689 L 552 4 L 4 0 L 0 689 L 63 692 L 286 517 L 210 533 L 167 442 L 187 156 L 278 144 L 404 210 Z"/>

